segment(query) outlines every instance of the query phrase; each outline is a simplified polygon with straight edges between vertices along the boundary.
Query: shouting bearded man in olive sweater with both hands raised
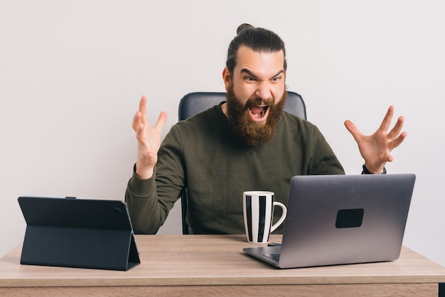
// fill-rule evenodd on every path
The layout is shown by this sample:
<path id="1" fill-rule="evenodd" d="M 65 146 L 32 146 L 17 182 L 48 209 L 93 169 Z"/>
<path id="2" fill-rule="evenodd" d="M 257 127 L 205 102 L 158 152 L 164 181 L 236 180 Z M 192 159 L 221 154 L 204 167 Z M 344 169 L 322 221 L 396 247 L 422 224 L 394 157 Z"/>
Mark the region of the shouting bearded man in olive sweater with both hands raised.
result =
<path id="1" fill-rule="evenodd" d="M 151 127 L 142 97 L 133 120 L 138 154 L 125 196 L 135 232 L 156 233 L 187 188 L 191 232 L 242 234 L 244 191 L 271 190 L 287 205 L 292 176 L 344 174 L 316 126 L 283 112 L 286 52 L 277 34 L 241 25 L 227 52 L 223 80 L 227 102 L 178 122 L 162 144 L 166 114 Z M 370 136 L 345 121 L 365 159 L 364 173 L 384 173 L 392 148 L 407 136 L 400 134 L 402 117 L 387 132 L 392 115 L 390 107 Z"/>

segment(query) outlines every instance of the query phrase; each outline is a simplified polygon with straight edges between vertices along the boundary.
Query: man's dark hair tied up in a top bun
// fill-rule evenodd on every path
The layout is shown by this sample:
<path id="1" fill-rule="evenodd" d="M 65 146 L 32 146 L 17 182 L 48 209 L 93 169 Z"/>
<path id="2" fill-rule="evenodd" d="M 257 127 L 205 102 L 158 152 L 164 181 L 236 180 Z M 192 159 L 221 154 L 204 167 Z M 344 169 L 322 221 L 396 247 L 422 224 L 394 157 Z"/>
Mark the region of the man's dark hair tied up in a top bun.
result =
<path id="1" fill-rule="evenodd" d="M 284 53 L 283 68 L 284 71 L 286 71 L 286 50 L 284 49 L 282 38 L 279 38 L 279 36 L 272 31 L 264 28 L 255 28 L 248 23 L 243 23 L 238 26 L 237 36 L 230 42 L 229 49 L 227 50 L 227 61 L 225 65 L 231 76 L 233 75 L 235 65 L 237 65 L 237 53 L 241 45 L 245 45 L 258 53 L 276 53 L 282 50 Z"/>

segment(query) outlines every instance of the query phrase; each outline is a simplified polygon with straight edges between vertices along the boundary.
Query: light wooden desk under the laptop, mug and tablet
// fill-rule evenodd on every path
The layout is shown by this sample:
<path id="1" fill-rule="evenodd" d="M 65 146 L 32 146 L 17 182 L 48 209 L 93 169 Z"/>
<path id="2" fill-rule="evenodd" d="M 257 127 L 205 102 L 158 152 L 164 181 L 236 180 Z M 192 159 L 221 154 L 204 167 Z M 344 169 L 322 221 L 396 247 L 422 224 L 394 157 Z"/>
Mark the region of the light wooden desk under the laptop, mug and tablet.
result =
<path id="1" fill-rule="evenodd" d="M 281 236 L 271 238 L 280 242 Z M 139 235 L 129 271 L 0 259 L 0 296 L 437 296 L 445 268 L 403 248 L 397 261 L 276 269 L 242 252 L 243 235 Z"/>

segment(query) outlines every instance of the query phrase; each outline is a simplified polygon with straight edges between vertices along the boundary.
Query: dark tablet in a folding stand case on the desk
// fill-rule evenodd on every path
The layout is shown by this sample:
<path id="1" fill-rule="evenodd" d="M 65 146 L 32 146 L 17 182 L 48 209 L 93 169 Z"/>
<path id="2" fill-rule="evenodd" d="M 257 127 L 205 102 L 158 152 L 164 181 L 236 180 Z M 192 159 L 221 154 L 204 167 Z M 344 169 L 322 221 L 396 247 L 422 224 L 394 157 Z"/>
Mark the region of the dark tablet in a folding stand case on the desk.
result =
<path id="1" fill-rule="evenodd" d="M 126 271 L 140 264 L 127 204 L 23 196 L 21 264 Z"/>

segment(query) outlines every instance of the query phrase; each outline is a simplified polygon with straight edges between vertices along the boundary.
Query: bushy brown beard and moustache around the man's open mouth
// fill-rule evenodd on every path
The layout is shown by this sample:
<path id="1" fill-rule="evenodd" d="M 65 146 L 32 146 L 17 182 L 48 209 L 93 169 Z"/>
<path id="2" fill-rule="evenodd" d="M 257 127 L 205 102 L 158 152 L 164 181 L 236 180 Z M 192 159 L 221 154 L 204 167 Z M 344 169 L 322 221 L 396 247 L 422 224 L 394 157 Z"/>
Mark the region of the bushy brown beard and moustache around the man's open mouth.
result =
<path id="1" fill-rule="evenodd" d="M 281 119 L 287 92 L 284 90 L 282 99 L 276 104 L 274 99 L 262 100 L 261 98 L 248 99 L 242 104 L 233 92 L 232 87 L 227 90 L 227 114 L 230 127 L 240 141 L 246 146 L 254 147 L 269 142 L 277 130 L 279 119 Z M 252 105 L 267 104 L 269 115 L 266 123 L 252 121 L 247 111 Z"/>

